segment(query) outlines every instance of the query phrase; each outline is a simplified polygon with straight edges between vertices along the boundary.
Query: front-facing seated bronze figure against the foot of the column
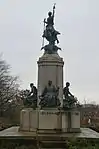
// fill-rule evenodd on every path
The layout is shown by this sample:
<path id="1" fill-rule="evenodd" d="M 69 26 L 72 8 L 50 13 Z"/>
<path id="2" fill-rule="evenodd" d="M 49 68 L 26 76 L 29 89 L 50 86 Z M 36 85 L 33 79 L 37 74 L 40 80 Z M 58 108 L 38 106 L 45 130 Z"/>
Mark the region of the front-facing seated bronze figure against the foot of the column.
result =
<path id="1" fill-rule="evenodd" d="M 57 107 L 60 105 L 58 98 L 59 87 L 55 88 L 52 85 L 52 81 L 48 81 L 48 85 L 44 88 L 42 95 L 40 96 L 41 107 Z"/>

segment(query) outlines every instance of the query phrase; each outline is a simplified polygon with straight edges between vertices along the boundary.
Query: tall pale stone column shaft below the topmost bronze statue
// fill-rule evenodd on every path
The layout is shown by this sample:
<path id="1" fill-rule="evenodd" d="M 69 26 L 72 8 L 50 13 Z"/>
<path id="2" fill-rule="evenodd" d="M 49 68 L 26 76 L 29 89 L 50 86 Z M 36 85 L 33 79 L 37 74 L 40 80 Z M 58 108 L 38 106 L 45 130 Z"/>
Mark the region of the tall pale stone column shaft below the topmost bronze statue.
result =
<path id="1" fill-rule="evenodd" d="M 38 60 L 38 96 L 51 80 L 53 85 L 59 86 L 59 98 L 63 103 L 63 59 L 58 54 L 44 54 Z"/>

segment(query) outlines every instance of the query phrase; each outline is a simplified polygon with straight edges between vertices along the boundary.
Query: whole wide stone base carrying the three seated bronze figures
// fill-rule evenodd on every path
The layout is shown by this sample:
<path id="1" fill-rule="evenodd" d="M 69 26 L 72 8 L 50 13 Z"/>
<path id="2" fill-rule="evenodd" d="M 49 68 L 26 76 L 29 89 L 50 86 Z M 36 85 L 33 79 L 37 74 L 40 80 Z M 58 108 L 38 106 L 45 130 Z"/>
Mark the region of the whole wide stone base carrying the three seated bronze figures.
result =
<path id="1" fill-rule="evenodd" d="M 57 108 L 43 108 L 43 110 L 25 108 L 20 114 L 19 131 L 80 132 L 80 112 L 77 110 L 64 111 Z"/>

